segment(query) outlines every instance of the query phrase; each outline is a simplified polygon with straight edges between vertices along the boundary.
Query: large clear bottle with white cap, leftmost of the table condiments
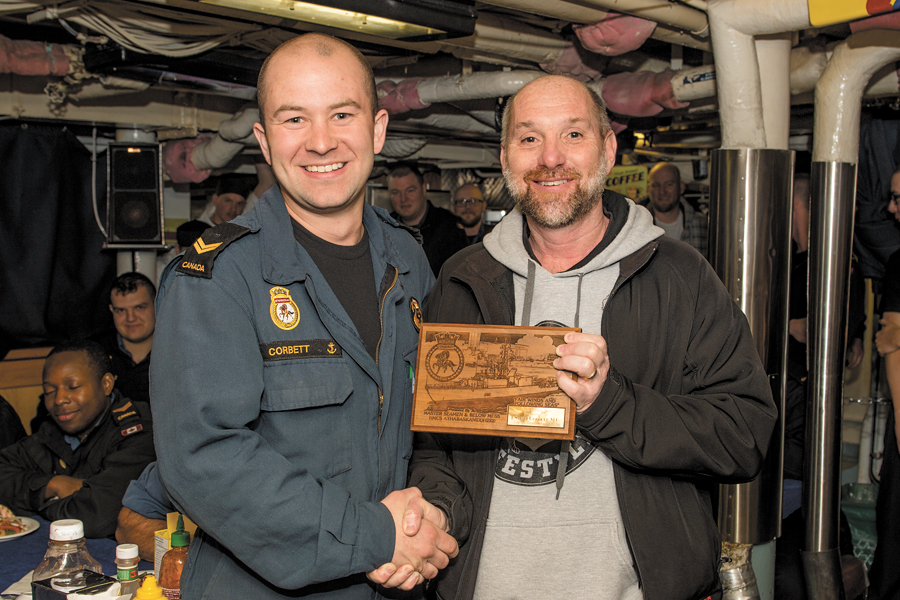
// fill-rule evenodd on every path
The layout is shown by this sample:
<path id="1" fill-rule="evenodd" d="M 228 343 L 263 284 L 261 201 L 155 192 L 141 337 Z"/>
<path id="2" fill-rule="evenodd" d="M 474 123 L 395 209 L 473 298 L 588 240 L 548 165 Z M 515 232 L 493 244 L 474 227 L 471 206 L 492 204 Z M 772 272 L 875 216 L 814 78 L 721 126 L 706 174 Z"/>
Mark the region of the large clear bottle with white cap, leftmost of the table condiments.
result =
<path id="1" fill-rule="evenodd" d="M 87 551 L 84 524 L 78 519 L 62 519 L 50 523 L 50 542 L 44 560 L 34 570 L 33 581 L 50 579 L 50 585 L 61 591 L 81 587 L 78 574 L 82 569 L 103 573 L 103 568 Z"/>

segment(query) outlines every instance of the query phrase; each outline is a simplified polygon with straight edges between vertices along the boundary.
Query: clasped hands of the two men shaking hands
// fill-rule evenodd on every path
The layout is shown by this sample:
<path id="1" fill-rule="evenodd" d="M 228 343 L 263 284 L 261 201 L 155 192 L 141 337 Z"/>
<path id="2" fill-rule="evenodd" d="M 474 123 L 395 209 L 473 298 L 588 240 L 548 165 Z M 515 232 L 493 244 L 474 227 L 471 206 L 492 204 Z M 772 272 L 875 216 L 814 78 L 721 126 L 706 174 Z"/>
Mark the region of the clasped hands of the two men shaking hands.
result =
<path id="1" fill-rule="evenodd" d="M 422 497 L 419 488 L 391 492 L 381 501 L 394 517 L 396 541 L 391 562 L 366 576 L 384 587 L 411 590 L 432 579 L 459 553 L 447 533 L 447 516 Z"/>

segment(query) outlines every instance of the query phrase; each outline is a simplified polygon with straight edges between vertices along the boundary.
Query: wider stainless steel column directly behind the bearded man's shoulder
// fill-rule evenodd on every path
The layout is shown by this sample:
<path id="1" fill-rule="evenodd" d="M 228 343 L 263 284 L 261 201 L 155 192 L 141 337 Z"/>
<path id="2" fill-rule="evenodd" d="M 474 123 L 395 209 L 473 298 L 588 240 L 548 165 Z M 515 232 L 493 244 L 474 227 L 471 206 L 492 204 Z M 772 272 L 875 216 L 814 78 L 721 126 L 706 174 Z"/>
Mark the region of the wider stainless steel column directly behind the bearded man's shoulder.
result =
<path id="1" fill-rule="evenodd" d="M 710 260 L 750 322 L 772 394 L 784 414 L 794 153 L 712 153 Z M 779 418 L 754 481 L 723 485 L 719 529 L 726 542 L 761 544 L 780 534 L 784 422 Z"/>

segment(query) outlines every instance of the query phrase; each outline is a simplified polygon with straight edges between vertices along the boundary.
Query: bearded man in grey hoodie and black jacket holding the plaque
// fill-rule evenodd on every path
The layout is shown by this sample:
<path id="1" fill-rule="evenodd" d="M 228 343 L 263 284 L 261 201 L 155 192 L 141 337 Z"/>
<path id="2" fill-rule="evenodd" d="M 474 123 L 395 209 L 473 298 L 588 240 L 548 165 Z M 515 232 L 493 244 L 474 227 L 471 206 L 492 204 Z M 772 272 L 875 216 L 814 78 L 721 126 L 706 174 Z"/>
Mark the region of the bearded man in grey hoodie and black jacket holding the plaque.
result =
<path id="1" fill-rule="evenodd" d="M 554 363 L 577 436 L 417 434 L 409 485 L 460 542 L 435 593 L 719 597 L 707 490 L 757 474 L 776 418 L 747 320 L 696 250 L 604 192 L 616 138 L 592 90 L 533 81 L 501 144 L 517 207 L 445 264 L 425 318 L 580 327 Z"/>

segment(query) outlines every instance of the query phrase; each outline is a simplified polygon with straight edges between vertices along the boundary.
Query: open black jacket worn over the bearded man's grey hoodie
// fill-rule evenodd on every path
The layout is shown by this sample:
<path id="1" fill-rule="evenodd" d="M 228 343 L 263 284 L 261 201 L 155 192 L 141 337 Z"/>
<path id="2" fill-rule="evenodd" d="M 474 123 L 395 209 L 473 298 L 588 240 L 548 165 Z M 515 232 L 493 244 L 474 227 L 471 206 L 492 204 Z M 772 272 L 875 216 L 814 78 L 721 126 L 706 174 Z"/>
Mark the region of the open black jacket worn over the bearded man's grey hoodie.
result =
<path id="1" fill-rule="evenodd" d="M 663 237 L 619 264 L 602 317 L 609 376 L 576 426 L 614 462 L 644 598 L 718 598 L 705 488 L 756 476 L 776 419 L 771 389 L 746 318 L 700 254 Z M 510 325 L 514 310 L 512 273 L 477 244 L 445 265 L 425 320 Z M 461 543 L 436 580 L 439 598 L 472 598 L 498 446 L 416 434 L 409 485 L 444 509 Z"/>

